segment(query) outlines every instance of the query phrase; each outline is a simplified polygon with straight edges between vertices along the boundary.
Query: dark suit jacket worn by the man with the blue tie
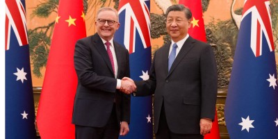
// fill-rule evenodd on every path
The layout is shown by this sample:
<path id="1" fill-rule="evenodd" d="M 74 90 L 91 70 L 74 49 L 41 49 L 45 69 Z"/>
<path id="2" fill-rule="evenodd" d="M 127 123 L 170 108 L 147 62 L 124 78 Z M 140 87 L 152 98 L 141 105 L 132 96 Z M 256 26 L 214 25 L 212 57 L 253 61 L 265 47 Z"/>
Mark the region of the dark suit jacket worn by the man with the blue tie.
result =
<path id="1" fill-rule="evenodd" d="M 170 43 L 154 54 L 149 80 L 136 81 L 136 96 L 154 94 L 154 132 L 158 131 L 161 106 L 173 133 L 199 134 L 202 117 L 214 119 L 217 95 L 217 68 L 209 44 L 189 36 L 170 72 Z"/>

